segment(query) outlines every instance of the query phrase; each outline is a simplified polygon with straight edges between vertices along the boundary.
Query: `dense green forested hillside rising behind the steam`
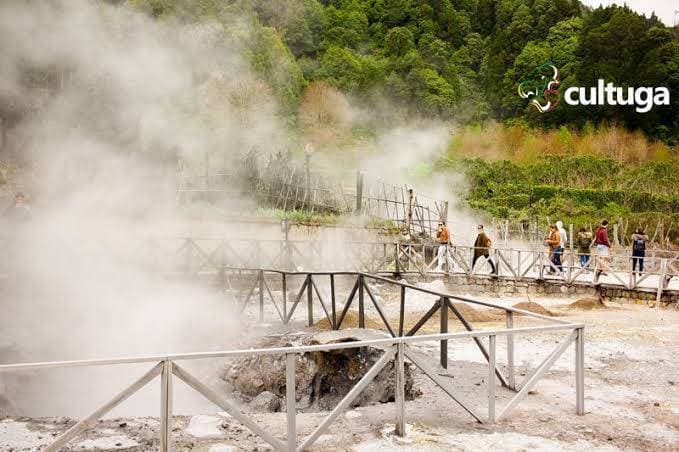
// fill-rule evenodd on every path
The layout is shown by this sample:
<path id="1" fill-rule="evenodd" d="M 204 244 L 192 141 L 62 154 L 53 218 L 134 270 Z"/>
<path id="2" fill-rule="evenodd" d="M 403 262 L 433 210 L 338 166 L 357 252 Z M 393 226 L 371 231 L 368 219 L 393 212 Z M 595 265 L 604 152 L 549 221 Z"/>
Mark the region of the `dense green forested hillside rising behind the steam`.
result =
<path id="1" fill-rule="evenodd" d="M 627 7 L 576 0 L 130 0 L 159 18 L 262 25 L 251 59 L 289 112 L 306 83 L 325 80 L 366 105 L 389 99 L 389 117 L 525 121 L 535 127 L 617 123 L 679 139 L 679 29 Z M 280 46 L 284 46 L 279 48 Z M 288 53 L 289 51 L 289 53 Z M 267 63 L 284 52 L 286 76 Z M 558 106 L 540 114 L 517 96 L 535 67 L 554 63 L 561 88 L 665 86 L 671 106 Z"/>

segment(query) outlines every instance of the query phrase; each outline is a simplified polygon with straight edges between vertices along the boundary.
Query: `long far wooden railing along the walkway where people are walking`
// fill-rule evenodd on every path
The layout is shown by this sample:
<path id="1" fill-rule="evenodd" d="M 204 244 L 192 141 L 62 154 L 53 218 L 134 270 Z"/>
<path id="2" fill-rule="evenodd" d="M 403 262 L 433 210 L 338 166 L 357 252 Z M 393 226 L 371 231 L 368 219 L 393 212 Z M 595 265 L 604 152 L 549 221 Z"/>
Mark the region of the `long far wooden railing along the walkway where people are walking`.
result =
<path id="1" fill-rule="evenodd" d="M 222 271 L 235 266 L 373 274 L 419 273 L 422 276 L 446 273 L 513 281 L 555 281 L 568 285 L 605 284 L 653 291 L 658 297 L 666 290 L 679 290 L 679 254 L 656 250 L 649 250 L 648 255 L 641 259 L 626 252 L 613 253 L 607 259 L 608 271 L 599 276 L 598 256 L 586 254 L 589 262 L 582 267 L 579 263 L 581 254 L 572 249 L 564 250 L 559 268 L 552 263 L 550 252 L 545 249 L 485 250 L 498 269 L 491 274 L 485 258 L 472 265 L 478 249 L 461 245 L 446 247 L 442 259 L 444 265 L 440 269 L 436 268 L 439 246 L 421 243 L 168 238 L 150 239 L 143 248 L 144 255 L 153 262 L 151 268 L 164 266 L 168 272 L 179 273 Z M 634 271 L 635 264 L 640 261 L 644 262 L 644 270 Z M 670 287 L 673 278 L 676 287 Z"/>

